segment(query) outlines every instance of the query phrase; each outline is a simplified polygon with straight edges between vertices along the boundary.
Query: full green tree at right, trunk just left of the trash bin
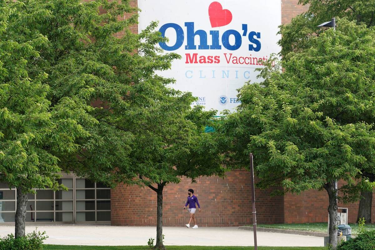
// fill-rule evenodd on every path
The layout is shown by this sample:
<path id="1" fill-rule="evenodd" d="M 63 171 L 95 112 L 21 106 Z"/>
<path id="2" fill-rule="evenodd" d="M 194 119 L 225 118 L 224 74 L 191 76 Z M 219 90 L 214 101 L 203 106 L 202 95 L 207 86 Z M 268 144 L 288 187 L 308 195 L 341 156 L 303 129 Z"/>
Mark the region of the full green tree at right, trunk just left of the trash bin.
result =
<path id="1" fill-rule="evenodd" d="M 284 71 L 263 70 L 261 84 L 240 89 L 242 104 L 217 129 L 229 138 L 226 158 L 237 167 L 254 154 L 261 187 L 285 192 L 325 189 L 329 235 L 337 247 L 337 199 L 358 199 L 356 178 L 374 165 L 375 29 L 339 20 L 340 29 L 311 37 L 311 47 L 291 52 Z M 338 190 L 335 180 L 348 184 Z M 340 195 L 337 195 L 337 192 Z"/>

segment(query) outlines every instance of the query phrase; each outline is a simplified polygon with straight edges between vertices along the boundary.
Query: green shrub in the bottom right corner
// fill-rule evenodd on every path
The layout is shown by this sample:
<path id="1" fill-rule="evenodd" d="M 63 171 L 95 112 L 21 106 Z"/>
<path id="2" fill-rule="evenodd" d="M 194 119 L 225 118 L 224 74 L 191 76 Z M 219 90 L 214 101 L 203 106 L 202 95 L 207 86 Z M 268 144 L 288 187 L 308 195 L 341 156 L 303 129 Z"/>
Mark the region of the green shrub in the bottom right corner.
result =
<path id="1" fill-rule="evenodd" d="M 338 250 L 370 250 L 375 249 L 375 230 L 365 231 L 356 238 L 344 242 Z"/>

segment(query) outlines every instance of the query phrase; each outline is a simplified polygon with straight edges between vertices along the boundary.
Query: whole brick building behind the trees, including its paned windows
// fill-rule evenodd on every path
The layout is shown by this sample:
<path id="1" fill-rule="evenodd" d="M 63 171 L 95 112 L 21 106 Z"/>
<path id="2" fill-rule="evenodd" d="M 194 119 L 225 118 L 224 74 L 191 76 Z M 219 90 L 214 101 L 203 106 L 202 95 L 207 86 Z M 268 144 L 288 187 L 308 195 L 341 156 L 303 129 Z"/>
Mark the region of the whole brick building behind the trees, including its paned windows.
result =
<path id="1" fill-rule="evenodd" d="M 131 4 L 136 6 L 137 0 L 132 0 Z M 298 0 L 281 0 L 282 24 L 287 24 L 306 9 L 307 6 L 298 5 Z M 131 27 L 131 30 L 138 32 L 138 27 Z M 27 222 L 156 225 L 156 193 L 148 187 L 142 189 L 118 185 L 115 189 L 109 189 L 74 175 L 63 175 L 60 183 L 69 190 L 38 190 L 36 195 L 29 195 Z M 202 212 L 197 213 L 199 226 L 239 226 L 252 223 L 250 174 L 238 170 L 228 172 L 224 179 L 204 177 L 192 184 L 190 180 L 183 178 L 179 184 L 168 184 L 163 192 L 163 225 L 181 226 L 187 223 L 188 213 L 182 208 L 189 188 L 195 190 L 201 204 Z M 311 190 L 300 195 L 271 197 L 270 193 L 278 188 L 256 189 L 258 223 L 327 221 L 326 191 Z M 15 193 L 15 189 L 9 190 L 0 183 L 0 222 L 14 222 Z M 349 209 L 349 222 L 355 222 L 358 203 L 345 207 Z M 372 211 L 372 219 L 375 220 L 375 209 Z"/>

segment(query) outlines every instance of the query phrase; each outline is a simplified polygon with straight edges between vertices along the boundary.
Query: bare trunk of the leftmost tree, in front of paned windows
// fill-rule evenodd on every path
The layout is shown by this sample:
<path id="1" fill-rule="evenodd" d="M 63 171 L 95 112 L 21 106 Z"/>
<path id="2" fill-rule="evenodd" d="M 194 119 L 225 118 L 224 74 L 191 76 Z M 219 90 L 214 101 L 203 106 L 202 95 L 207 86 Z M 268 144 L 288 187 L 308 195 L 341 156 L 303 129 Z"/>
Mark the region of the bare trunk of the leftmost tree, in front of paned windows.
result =
<path id="1" fill-rule="evenodd" d="M 17 188 L 17 210 L 15 215 L 15 237 L 25 237 L 26 207 L 28 196 Z"/>

